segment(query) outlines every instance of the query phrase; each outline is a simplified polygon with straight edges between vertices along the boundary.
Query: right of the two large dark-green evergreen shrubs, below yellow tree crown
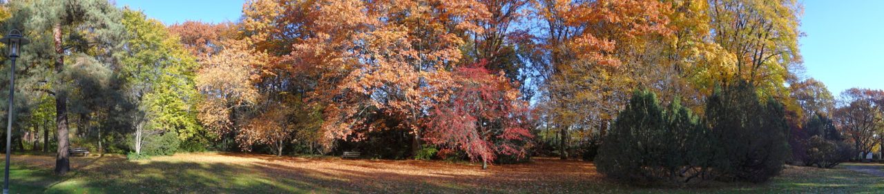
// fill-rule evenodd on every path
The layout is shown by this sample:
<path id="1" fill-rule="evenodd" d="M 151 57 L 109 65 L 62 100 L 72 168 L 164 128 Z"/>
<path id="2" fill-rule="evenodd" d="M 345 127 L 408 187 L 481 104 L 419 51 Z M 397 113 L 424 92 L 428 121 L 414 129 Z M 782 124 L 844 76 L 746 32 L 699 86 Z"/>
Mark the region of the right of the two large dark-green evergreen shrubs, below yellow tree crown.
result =
<path id="1" fill-rule="evenodd" d="M 781 172 L 791 152 L 780 102 L 758 101 L 755 87 L 741 81 L 716 89 L 706 103 L 706 119 L 720 149 L 714 168 L 724 180 L 761 183 Z"/>

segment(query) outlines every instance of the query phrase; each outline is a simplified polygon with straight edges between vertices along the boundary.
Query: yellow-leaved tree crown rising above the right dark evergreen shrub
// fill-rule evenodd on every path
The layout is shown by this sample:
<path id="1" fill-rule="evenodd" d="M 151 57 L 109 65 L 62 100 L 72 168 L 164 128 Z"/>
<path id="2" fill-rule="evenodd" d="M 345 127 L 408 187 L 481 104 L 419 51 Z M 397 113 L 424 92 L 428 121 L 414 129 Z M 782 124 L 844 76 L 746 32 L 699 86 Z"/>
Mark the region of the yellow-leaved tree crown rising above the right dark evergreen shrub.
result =
<path id="1" fill-rule="evenodd" d="M 729 77 L 748 80 L 764 96 L 786 96 L 789 66 L 801 60 L 797 1 L 715 0 L 709 6 L 713 41 L 736 59 Z"/>

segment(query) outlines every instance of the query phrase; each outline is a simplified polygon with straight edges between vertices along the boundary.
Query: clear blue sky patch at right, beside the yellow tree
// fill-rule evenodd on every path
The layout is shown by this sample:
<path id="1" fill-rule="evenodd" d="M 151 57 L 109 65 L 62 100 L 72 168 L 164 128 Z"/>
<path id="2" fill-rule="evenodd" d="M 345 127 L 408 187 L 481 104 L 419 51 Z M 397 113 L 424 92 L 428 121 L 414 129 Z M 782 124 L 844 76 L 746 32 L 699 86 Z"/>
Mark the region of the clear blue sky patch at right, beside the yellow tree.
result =
<path id="1" fill-rule="evenodd" d="M 804 0 L 799 42 L 807 76 L 835 96 L 850 87 L 884 89 L 884 1 Z"/>

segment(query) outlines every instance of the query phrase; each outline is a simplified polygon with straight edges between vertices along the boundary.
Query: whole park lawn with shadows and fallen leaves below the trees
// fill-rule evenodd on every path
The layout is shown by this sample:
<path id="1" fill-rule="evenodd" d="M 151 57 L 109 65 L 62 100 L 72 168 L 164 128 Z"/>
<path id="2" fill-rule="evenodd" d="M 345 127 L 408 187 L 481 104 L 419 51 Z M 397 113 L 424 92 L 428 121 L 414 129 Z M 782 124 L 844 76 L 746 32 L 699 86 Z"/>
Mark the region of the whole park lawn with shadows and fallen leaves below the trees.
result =
<path id="1" fill-rule="evenodd" d="M 151 160 L 14 155 L 11 193 L 884 193 L 884 177 L 845 168 L 789 167 L 769 183 L 700 189 L 637 188 L 603 179 L 591 162 L 535 159 L 492 166 L 444 161 L 340 160 L 239 153 L 179 153 Z M 884 167 L 884 166 L 882 166 Z"/>

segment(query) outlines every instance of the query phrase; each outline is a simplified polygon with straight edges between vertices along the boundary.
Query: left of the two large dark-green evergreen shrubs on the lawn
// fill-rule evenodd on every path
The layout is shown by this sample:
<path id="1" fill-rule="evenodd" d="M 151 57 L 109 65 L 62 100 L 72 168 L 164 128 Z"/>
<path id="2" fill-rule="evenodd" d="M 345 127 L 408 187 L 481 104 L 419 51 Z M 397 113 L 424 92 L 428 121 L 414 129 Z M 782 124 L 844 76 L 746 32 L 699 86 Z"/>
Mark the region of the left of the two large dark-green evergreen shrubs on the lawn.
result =
<path id="1" fill-rule="evenodd" d="M 598 172 L 629 183 L 698 183 L 713 155 L 708 134 L 679 101 L 664 110 L 653 93 L 636 91 L 598 148 Z"/>

